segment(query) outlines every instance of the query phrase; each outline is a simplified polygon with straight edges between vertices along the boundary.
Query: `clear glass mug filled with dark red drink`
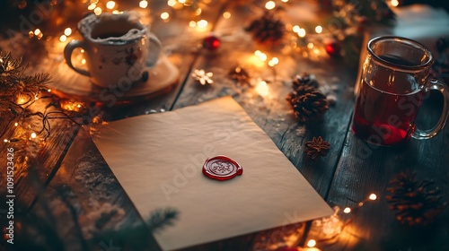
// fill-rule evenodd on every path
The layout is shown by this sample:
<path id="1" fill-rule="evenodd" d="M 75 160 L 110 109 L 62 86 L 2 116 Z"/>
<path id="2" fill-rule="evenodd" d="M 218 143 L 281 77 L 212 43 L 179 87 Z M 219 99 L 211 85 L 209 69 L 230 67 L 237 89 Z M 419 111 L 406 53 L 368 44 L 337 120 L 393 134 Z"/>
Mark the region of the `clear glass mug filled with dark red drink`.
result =
<path id="1" fill-rule="evenodd" d="M 367 45 L 367 56 L 357 93 L 352 131 L 377 145 L 395 145 L 410 138 L 429 139 L 445 126 L 449 91 L 444 82 L 428 79 L 434 63 L 431 52 L 418 42 L 400 37 L 379 37 Z M 415 125 L 427 91 L 441 91 L 445 101 L 438 123 L 429 130 Z"/>

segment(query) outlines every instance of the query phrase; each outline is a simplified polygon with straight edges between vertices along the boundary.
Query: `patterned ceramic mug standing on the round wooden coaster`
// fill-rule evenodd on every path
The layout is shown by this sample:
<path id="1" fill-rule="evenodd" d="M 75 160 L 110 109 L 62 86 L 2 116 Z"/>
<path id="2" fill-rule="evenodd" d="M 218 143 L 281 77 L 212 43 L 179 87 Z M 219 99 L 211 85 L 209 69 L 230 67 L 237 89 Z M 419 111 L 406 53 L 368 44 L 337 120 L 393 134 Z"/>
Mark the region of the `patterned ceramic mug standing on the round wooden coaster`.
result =
<path id="1" fill-rule="evenodd" d="M 83 39 L 66 45 L 66 63 L 100 87 L 145 82 L 147 69 L 156 64 L 161 51 L 161 42 L 138 21 L 136 13 L 91 14 L 78 23 L 78 30 Z M 151 51 L 150 43 L 154 45 Z M 75 48 L 84 49 L 87 70 L 72 64 Z"/>

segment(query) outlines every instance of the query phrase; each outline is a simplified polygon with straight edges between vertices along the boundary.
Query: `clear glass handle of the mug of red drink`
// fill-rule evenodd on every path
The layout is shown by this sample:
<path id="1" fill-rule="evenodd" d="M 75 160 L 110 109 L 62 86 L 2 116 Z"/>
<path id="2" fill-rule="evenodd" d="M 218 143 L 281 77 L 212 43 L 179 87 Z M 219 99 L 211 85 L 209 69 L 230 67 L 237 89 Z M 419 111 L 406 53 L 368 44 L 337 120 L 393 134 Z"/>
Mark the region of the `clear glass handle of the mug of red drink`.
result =
<path id="1" fill-rule="evenodd" d="M 429 129 L 429 130 L 424 130 L 424 131 L 421 131 L 417 128 L 415 133 L 411 135 L 413 138 L 418 139 L 418 140 L 430 139 L 430 138 L 434 137 L 445 127 L 447 117 L 449 117 L 449 113 L 448 113 L 448 111 L 449 111 L 448 110 L 448 108 L 449 108 L 449 90 L 448 90 L 447 86 L 445 85 L 444 82 L 441 82 L 441 81 L 438 81 L 435 79 L 429 80 L 428 82 L 430 82 L 430 85 L 427 87 L 426 91 L 432 91 L 432 90 L 440 91 L 441 94 L 443 94 L 443 98 L 445 98 L 445 100 L 444 100 L 443 111 L 442 111 L 440 120 L 434 126 L 434 128 Z"/>

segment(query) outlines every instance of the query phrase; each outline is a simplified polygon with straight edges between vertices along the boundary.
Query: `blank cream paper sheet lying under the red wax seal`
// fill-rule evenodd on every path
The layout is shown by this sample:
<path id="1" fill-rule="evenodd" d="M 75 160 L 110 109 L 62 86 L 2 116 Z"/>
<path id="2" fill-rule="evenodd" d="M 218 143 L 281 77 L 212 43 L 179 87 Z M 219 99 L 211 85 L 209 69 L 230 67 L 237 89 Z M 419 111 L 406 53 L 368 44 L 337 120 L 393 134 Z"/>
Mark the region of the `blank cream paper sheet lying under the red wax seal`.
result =
<path id="1" fill-rule="evenodd" d="M 308 221 L 332 210 L 230 97 L 98 128 L 94 142 L 136 209 L 180 212 L 154 234 L 164 250 Z M 298 151 L 301 151 L 298 149 Z M 226 155 L 242 176 L 217 181 L 204 161 Z"/>

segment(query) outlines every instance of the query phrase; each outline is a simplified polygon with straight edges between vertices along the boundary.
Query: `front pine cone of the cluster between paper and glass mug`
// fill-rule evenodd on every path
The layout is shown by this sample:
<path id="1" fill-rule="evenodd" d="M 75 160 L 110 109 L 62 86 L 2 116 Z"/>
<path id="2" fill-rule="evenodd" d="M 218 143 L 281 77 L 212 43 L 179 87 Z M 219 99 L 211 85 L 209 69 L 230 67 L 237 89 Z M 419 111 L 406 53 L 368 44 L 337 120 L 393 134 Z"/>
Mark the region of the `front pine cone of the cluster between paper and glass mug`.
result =
<path id="1" fill-rule="evenodd" d="M 321 117 L 329 109 L 326 96 L 319 91 L 297 96 L 290 100 L 290 104 L 295 111 L 295 117 L 302 123 Z"/>

